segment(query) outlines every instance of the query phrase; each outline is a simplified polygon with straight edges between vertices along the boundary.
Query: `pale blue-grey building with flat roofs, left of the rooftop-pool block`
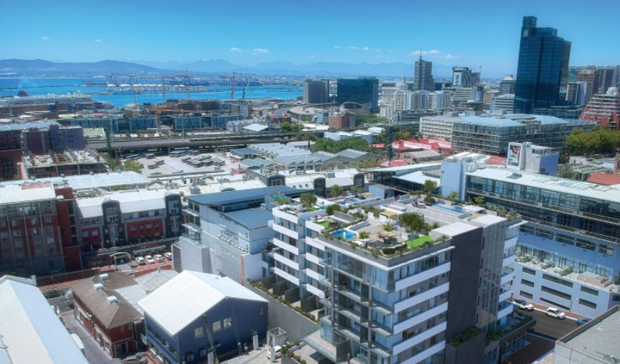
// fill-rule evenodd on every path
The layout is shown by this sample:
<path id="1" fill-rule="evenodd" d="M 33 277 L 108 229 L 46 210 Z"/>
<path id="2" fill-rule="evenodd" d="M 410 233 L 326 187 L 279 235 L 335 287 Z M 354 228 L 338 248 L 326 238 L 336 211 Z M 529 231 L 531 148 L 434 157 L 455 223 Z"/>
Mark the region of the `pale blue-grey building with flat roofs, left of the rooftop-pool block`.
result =
<path id="1" fill-rule="evenodd" d="M 274 233 L 270 211 L 277 195 L 299 197 L 303 189 L 284 186 L 198 194 L 187 198 L 187 235 L 179 241 L 175 269 L 223 274 L 239 284 L 262 276 L 262 249 Z M 267 206 L 262 207 L 262 204 Z M 177 266 L 177 261 L 180 262 Z"/>

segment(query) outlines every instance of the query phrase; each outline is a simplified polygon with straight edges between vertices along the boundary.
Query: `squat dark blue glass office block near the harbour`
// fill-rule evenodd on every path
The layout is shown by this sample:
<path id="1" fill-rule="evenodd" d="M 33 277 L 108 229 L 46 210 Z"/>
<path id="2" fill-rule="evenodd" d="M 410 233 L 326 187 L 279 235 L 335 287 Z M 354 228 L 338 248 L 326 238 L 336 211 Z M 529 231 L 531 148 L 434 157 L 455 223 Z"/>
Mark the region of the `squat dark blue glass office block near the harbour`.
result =
<path id="1" fill-rule="evenodd" d="M 379 80 L 375 77 L 339 78 L 336 102 L 358 103 L 373 113 L 379 111 Z"/>

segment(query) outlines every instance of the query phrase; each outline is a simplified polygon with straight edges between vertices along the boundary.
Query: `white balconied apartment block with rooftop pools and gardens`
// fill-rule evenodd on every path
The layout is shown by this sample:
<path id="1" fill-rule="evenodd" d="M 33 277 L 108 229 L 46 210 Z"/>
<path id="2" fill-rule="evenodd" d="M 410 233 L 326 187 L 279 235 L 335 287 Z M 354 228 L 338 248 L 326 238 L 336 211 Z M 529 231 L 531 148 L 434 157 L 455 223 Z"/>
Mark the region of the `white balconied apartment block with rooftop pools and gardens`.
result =
<path id="1" fill-rule="evenodd" d="M 515 318 L 507 301 L 520 219 L 412 202 L 405 195 L 351 205 L 361 219 L 295 203 L 274 209 L 272 284 L 298 291 L 302 307 L 321 307 L 319 330 L 304 342 L 355 363 L 497 363 L 525 345 L 532 322 Z M 363 212 L 371 206 L 378 212 Z M 440 227 L 412 236 L 396 223 L 404 213 Z M 344 227 L 328 229 L 335 222 Z M 472 326 L 471 340 L 451 340 Z M 484 333 L 507 329 L 510 336 L 485 343 Z"/>

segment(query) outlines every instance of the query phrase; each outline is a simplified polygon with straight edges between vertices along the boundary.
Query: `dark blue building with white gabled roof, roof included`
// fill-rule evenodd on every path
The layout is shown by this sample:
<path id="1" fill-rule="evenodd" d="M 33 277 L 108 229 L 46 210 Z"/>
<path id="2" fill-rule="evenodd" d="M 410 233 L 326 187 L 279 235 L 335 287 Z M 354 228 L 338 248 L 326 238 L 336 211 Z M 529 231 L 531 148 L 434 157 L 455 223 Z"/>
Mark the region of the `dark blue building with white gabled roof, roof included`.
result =
<path id="1" fill-rule="evenodd" d="M 138 304 L 157 363 L 217 363 L 267 338 L 267 300 L 228 277 L 183 271 Z"/>

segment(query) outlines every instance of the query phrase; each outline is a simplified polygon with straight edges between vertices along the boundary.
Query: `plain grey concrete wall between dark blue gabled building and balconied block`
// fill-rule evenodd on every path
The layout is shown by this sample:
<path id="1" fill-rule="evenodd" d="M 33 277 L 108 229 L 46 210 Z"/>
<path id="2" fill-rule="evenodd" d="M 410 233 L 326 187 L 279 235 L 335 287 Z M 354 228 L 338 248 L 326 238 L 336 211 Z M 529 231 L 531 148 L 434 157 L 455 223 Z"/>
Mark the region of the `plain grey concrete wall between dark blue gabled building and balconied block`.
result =
<path id="1" fill-rule="evenodd" d="M 289 336 L 289 341 L 301 340 L 304 336 L 319 329 L 318 323 L 314 323 L 309 318 L 301 316 L 301 314 L 293 311 L 284 303 L 280 303 L 259 288 L 249 284 L 246 285 L 246 287 L 269 301 L 268 328 L 279 327 L 286 331 Z"/>

